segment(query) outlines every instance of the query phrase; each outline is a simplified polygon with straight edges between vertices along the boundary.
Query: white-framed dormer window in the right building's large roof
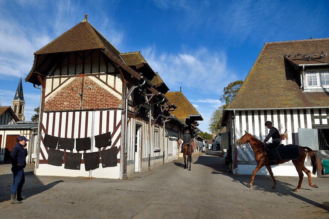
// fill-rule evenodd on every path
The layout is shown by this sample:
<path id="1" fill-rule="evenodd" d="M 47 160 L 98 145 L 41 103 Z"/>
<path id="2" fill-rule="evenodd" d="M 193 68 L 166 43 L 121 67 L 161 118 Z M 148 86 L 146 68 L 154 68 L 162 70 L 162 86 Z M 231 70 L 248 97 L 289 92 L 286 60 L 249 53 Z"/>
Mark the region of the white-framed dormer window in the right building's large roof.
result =
<path id="1" fill-rule="evenodd" d="M 306 87 L 308 88 L 329 88 L 329 70 L 318 69 L 305 72 Z"/>

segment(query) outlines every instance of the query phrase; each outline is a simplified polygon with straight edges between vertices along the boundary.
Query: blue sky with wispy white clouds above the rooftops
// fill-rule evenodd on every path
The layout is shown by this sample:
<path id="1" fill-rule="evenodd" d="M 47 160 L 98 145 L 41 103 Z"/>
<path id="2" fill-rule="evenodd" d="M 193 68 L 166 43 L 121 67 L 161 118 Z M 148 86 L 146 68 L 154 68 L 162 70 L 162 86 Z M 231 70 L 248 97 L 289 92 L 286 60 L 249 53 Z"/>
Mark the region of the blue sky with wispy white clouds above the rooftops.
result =
<path id="1" fill-rule="evenodd" d="M 0 0 L 0 98 L 12 105 L 33 53 L 88 21 L 120 52 L 141 51 L 170 91 L 202 114 L 202 131 L 228 83 L 244 79 L 264 42 L 329 37 L 328 1 Z M 26 121 L 40 90 L 23 82 Z"/>

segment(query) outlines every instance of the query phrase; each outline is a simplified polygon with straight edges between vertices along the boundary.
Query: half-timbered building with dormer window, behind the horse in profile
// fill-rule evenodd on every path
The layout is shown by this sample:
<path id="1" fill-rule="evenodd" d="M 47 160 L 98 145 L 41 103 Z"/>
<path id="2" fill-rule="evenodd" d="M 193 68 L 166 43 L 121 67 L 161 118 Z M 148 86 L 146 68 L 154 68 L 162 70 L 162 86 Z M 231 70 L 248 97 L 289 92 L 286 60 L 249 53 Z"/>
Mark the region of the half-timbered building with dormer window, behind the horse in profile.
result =
<path id="1" fill-rule="evenodd" d="M 321 158 L 329 157 L 329 38 L 265 43 L 239 93 L 224 109 L 233 173 L 252 174 L 254 153 L 237 140 L 246 130 L 264 141 L 266 121 L 272 121 L 288 139 L 283 144 L 307 146 Z M 311 169 L 309 160 L 305 166 Z M 292 162 L 272 167 L 274 175 L 298 176 Z M 259 174 L 268 175 L 262 169 Z M 306 176 L 306 175 L 305 175 Z"/>

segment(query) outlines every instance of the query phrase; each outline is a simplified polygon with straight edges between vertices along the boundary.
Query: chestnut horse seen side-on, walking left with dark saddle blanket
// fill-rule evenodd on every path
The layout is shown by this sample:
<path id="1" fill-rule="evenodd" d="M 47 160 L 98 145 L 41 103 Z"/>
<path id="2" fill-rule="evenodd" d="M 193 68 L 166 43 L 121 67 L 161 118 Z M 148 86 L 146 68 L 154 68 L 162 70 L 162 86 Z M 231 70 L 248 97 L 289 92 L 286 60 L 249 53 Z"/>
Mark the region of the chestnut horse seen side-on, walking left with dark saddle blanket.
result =
<path id="1" fill-rule="evenodd" d="M 274 185 L 273 185 L 273 189 L 276 188 L 276 180 L 273 176 L 273 172 L 271 169 L 271 165 L 276 165 L 276 164 L 281 164 L 281 163 L 285 163 L 288 162 L 289 160 L 281 160 L 280 158 L 276 157 L 277 162 L 275 163 L 270 163 L 269 162 L 269 158 L 268 156 L 265 155 L 264 153 L 264 145 L 263 142 L 261 142 L 260 140 L 258 140 L 257 138 L 255 138 L 254 136 L 252 136 L 251 134 L 249 134 L 248 132 L 245 131 L 245 134 L 238 140 L 238 145 L 243 145 L 249 143 L 249 145 L 251 146 L 252 150 L 255 153 L 255 160 L 257 162 L 257 166 L 254 170 L 254 172 L 252 173 L 252 177 L 249 183 L 249 187 L 252 186 L 252 183 L 254 182 L 254 178 L 256 173 L 263 167 L 266 166 L 266 169 L 268 170 L 268 173 L 271 175 Z M 307 151 L 305 151 L 305 149 Z M 298 182 L 298 186 L 297 188 L 295 188 L 293 191 L 297 192 L 300 187 L 302 186 L 302 181 L 303 181 L 303 177 L 304 174 L 302 171 L 304 171 L 307 174 L 308 180 L 309 180 L 309 185 L 314 187 L 314 188 L 318 188 L 316 185 L 314 185 L 311 182 L 311 172 L 304 166 L 304 161 L 307 155 L 307 152 L 309 153 L 309 159 L 311 160 L 312 163 L 312 167 L 313 167 L 313 171 L 312 174 L 316 173 L 316 157 L 315 157 L 315 153 L 312 149 L 308 148 L 308 147 L 301 147 L 299 146 L 299 157 L 296 160 L 292 160 L 293 165 L 295 165 L 296 170 L 298 172 L 298 176 L 299 176 L 299 182 Z"/>

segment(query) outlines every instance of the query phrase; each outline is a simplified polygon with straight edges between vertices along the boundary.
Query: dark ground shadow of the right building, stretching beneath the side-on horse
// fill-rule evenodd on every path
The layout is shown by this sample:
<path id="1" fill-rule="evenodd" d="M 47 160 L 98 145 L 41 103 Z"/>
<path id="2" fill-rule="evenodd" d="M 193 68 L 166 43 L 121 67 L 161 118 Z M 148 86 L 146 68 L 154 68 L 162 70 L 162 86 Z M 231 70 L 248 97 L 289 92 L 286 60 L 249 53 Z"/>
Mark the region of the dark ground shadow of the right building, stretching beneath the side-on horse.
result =
<path id="1" fill-rule="evenodd" d="M 217 154 L 216 154 L 217 153 Z M 224 157 L 218 157 L 218 152 L 211 151 L 207 152 L 206 155 L 212 156 L 199 156 L 197 161 L 192 164 L 200 164 L 207 167 L 210 167 L 214 170 L 213 174 L 221 174 L 228 177 L 231 177 L 233 181 L 240 182 L 242 185 L 248 187 L 251 175 L 233 175 L 232 173 L 227 173 L 228 166 L 225 165 Z M 307 181 L 307 178 L 304 177 L 304 180 Z M 292 185 L 291 183 L 277 181 L 277 188 L 272 189 L 273 180 L 270 176 L 256 175 L 252 189 L 264 191 L 264 192 L 272 192 L 279 196 L 292 196 L 296 199 L 301 200 L 302 202 L 314 205 L 316 207 L 322 208 L 329 213 L 329 202 L 324 202 L 322 204 L 312 201 L 308 198 L 298 195 L 298 192 L 293 192 L 292 190 L 296 188 L 298 184 L 298 179 L 296 178 L 296 184 Z M 316 188 L 305 188 L 305 184 L 303 184 L 301 190 L 316 190 Z M 308 183 L 307 183 L 308 186 Z"/>

